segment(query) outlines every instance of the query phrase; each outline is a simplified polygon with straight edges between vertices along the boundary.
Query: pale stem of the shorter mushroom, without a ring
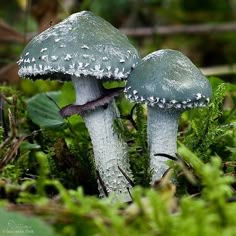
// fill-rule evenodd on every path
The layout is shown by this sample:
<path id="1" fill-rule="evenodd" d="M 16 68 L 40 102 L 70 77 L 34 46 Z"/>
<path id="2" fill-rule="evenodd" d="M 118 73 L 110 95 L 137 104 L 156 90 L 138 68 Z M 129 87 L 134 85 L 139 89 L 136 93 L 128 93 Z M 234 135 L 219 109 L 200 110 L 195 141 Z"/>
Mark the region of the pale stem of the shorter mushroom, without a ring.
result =
<path id="1" fill-rule="evenodd" d="M 175 156 L 177 151 L 178 120 L 181 112 L 158 107 L 148 107 L 148 146 L 150 152 L 150 169 L 153 184 L 160 179 L 168 169 L 168 158 L 155 156 L 157 153 L 165 153 Z"/>

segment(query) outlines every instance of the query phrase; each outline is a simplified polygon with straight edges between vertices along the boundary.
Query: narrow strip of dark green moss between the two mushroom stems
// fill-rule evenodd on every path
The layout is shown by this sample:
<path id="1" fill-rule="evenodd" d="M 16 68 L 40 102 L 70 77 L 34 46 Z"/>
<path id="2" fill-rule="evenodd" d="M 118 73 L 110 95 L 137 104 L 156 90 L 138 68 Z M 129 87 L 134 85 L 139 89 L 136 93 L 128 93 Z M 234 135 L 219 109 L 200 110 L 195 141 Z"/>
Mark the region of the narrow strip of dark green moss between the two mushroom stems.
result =
<path id="1" fill-rule="evenodd" d="M 118 103 L 121 108 L 121 117 L 124 122 L 115 122 L 115 130 L 123 140 L 129 145 L 129 158 L 131 170 L 134 173 L 134 182 L 136 185 L 149 186 L 149 154 L 146 142 L 146 122 L 144 107 L 140 104 L 131 106 L 127 111 L 123 108 L 126 100 Z M 129 105 L 127 106 L 129 107 Z"/>

